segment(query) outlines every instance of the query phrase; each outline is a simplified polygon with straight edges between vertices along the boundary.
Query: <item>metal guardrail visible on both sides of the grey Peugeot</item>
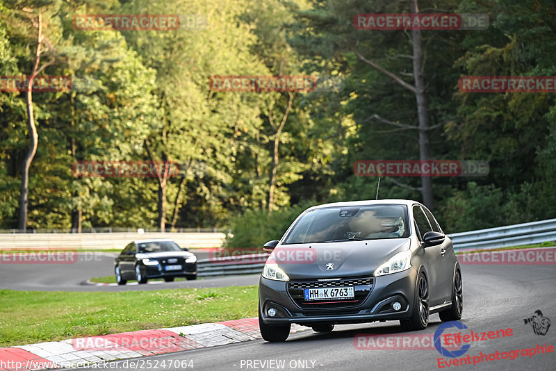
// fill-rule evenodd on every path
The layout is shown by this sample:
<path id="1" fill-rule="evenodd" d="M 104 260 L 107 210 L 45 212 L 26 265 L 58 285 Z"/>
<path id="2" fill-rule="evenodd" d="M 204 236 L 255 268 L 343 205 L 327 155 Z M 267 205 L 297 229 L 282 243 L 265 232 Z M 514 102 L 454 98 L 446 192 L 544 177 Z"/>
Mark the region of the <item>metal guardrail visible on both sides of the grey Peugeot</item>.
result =
<path id="1" fill-rule="evenodd" d="M 448 237 L 452 240 L 456 251 L 556 242 L 556 219 L 451 233 Z M 256 274 L 263 270 L 266 258 L 268 254 L 202 259 L 197 261 L 197 274 L 199 277 Z"/>

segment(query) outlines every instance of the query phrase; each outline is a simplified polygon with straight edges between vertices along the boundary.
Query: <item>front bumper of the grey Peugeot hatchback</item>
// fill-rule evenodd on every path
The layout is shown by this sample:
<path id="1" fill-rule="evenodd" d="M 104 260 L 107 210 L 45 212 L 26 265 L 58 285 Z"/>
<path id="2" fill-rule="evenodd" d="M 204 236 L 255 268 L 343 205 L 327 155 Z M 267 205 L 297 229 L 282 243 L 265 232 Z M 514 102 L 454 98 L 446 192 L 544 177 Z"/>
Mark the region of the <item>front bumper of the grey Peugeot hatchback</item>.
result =
<path id="1" fill-rule="evenodd" d="M 297 304 L 288 291 L 288 282 L 261 277 L 259 280 L 259 313 L 265 324 L 304 324 L 317 322 L 349 324 L 409 318 L 413 310 L 417 272 L 410 267 L 403 272 L 373 277 L 373 285 L 363 301 L 355 306 L 336 308 L 306 308 Z M 317 279 L 315 279 L 317 281 Z M 402 308 L 394 311 L 393 302 Z M 275 317 L 268 316 L 268 308 L 277 309 Z"/>

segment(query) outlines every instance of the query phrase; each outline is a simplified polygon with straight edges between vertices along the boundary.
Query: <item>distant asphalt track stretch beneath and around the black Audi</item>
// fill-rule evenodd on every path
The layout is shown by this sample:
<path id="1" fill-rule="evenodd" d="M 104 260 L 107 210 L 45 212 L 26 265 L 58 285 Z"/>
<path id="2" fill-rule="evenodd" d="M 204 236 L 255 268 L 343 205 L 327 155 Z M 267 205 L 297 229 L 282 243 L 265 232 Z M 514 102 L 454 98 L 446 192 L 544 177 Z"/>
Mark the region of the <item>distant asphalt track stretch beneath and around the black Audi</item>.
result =
<path id="1" fill-rule="evenodd" d="M 208 258 L 207 252 L 193 253 L 197 258 Z M 195 281 L 161 282 L 126 286 L 90 286 L 85 281 L 92 277 L 114 274 L 116 253 L 79 252 L 72 264 L 7 264 L 0 263 L 0 289 L 33 291 L 127 291 L 161 290 L 165 288 L 210 288 L 247 286 L 259 282 L 259 275 L 218 277 Z"/>

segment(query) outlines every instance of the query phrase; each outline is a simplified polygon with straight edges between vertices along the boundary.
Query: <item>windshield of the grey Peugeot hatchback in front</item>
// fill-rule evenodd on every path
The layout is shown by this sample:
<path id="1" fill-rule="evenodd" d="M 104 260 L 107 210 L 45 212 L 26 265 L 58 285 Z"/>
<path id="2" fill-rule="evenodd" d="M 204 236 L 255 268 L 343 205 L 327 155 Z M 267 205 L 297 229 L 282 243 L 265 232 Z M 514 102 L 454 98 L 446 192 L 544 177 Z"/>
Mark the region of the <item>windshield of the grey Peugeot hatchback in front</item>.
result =
<path id="1" fill-rule="evenodd" d="M 319 208 L 306 211 L 284 244 L 406 238 L 407 208 L 373 205 Z"/>

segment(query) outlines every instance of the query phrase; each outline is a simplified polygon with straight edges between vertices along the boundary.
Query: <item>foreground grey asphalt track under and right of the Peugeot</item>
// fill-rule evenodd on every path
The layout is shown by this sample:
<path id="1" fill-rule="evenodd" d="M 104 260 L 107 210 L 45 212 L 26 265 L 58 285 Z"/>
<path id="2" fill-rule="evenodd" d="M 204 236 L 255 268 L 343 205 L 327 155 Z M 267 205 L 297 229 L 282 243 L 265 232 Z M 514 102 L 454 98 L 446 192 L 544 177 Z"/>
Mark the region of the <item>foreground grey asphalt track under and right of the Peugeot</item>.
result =
<path id="1" fill-rule="evenodd" d="M 512 336 L 477 341 L 461 357 L 510 352 L 536 347 L 537 344 L 556 345 L 556 325 L 546 335 L 536 335 L 524 319 L 541 310 L 543 316 L 556 320 L 555 265 L 463 265 L 464 316 L 468 330 L 475 333 L 511 328 Z M 425 331 L 405 333 L 415 335 L 434 333 L 442 322 L 432 315 Z M 466 331 L 468 331 L 466 330 Z M 448 331 L 447 331 L 448 332 Z M 450 331 L 457 332 L 457 331 Z M 285 343 L 248 341 L 140 358 L 150 360 L 150 369 L 188 370 L 168 367 L 170 361 L 193 360 L 193 370 L 556 370 L 556 349 L 553 353 L 520 355 L 514 360 L 499 359 L 477 365 L 452 365 L 439 368 L 436 349 L 356 349 L 355 336 L 361 333 L 400 334 L 398 322 L 336 326 L 332 333 L 318 334 L 312 330 L 291 334 Z M 461 358 L 459 357 L 459 358 Z M 275 363 L 276 360 L 278 361 Z M 106 364 L 105 369 L 131 370 L 129 361 Z M 163 368 L 162 362 L 166 361 Z M 271 361 L 271 363 L 264 363 Z M 280 361 L 284 361 L 282 366 Z M 89 368 L 90 369 L 90 368 Z M 149 370 L 147 364 L 135 370 Z M 87 369 L 83 369 L 87 370 Z"/>

